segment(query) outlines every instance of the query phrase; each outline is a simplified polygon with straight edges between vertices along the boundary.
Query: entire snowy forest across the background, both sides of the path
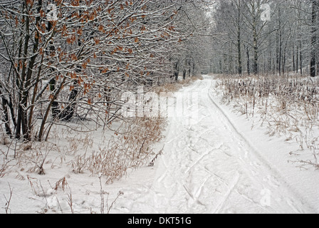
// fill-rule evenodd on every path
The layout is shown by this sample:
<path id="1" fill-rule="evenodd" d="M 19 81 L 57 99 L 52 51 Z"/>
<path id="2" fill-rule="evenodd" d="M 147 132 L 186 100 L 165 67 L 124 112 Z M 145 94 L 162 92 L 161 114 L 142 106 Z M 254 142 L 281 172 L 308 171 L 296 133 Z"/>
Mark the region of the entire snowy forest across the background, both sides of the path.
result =
<path id="1" fill-rule="evenodd" d="M 123 92 L 179 75 L 319 71 L 316 0 L 0 5 L 1 126 L 26 141 L 45 139 L 50 125 L 83 112 L 107 125 Z"/>

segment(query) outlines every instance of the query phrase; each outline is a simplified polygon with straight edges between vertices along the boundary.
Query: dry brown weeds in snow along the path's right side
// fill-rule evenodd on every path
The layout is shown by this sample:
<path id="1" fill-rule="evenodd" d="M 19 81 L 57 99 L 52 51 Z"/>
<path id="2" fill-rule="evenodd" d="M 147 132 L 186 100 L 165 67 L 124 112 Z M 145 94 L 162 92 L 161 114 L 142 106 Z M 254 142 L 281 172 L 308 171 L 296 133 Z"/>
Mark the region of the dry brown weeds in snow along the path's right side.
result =
<path id="1" fill-rule="evenodd" d="M 281 78 L 278 76 L 219 76 L 224 103 L 247 118 L 258 118 L 268 135 L 283 135 L 296 140 L 300 151 L 311 151 L 314 158 L 298 160 L 318 168 L 319 81 L 318 78 Z"/>

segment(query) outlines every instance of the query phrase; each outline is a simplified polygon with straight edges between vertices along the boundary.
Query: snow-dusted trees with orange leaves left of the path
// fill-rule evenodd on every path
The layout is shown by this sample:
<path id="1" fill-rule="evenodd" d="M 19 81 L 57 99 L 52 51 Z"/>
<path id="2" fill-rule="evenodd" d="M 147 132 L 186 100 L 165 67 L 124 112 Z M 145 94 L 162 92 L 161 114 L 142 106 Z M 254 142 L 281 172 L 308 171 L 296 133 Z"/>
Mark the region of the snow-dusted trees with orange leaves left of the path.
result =
<path id="1" fill-rule="evenodd" d="M 108 125 L 119 118 L 125 91 L 162 85 L 180 68 L 185 76 L 199 68 L 201 48 L 192 44 L 207 29 L 201 1 L 0 6 L 1 126 L 11 138 L 45 140 L 51 125 L 73 118 Z"/>

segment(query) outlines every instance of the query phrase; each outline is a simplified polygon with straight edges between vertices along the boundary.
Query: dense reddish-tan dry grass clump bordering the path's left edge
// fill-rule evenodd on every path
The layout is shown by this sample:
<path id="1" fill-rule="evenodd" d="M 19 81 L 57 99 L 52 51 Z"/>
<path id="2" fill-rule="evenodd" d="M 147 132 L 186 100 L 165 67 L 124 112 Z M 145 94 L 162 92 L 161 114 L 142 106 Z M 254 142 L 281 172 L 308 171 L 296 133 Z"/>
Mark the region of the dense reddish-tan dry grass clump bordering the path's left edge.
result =
<path id="1" fill-rule="evenodd" d="M 92 155 L 78 156 L 72 163 L 73 169 L 89 170 L 91 175 L 103 175 L 107 183 L 114 182 L 150 160 L 152 146 L 162 139 L 165 120 L 160 118 L 135 118 L 125 123 L 110 139 L 108 147 L 100 148 Z M 80 164 L 80 167 L 79 165 Z"/>

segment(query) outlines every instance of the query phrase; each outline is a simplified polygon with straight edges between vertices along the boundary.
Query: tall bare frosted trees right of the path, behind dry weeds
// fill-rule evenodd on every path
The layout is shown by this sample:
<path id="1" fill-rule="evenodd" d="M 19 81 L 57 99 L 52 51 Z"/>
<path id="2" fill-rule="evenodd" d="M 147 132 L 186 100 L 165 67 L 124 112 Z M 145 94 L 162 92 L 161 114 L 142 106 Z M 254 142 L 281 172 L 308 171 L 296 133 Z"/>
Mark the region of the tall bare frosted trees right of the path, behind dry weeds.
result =
<path id="1" fill-rule="evenodd" d="M 219 1 L 210 71 L 318 76 L 318 1 Z"/>

